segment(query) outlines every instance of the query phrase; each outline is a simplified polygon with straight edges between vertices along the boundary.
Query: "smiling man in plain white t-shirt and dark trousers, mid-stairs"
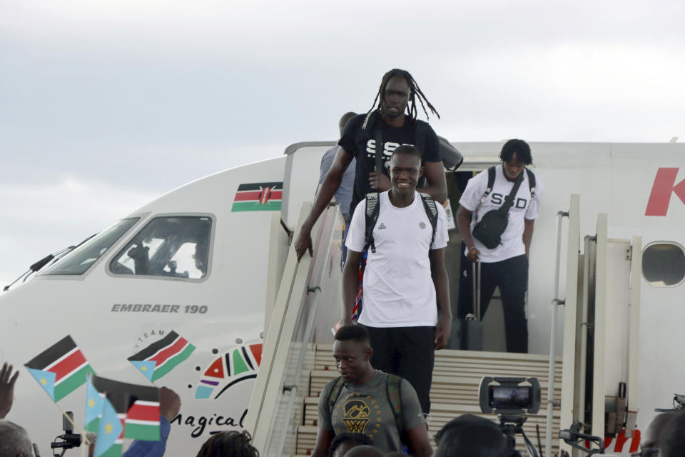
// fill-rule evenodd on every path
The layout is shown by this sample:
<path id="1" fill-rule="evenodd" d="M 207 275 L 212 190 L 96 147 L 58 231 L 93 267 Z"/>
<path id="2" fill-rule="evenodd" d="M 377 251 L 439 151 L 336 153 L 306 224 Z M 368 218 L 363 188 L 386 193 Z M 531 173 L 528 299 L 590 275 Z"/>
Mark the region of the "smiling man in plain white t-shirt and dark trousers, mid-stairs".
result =
<path id="1" fill-rule="evenodd" d="M 371 365 L 405 378 L 414 387 L 424 413 L 430 411 L 435 349 L 450 339 L 452 311 L 445 270 L 447 220 L 437 208 L 435 238 L 416 185 L 421 153 L 402 145 L 390 159 L 390 191 L 379 194 L 363 279 L 363 308 L 358 323 L 371 337 Z M 366 201 L 360 201 L 347 233 L 347 261 L 342 272 L 342 324 L 352 323 L 359 286 L 359 262 L 366 244 Z M 432 204 L 432 202 L 430 202 Z M 432 244 L 431 244 L 432 240 Z M 429 256 L 429 251 L 432 251 Z"/>

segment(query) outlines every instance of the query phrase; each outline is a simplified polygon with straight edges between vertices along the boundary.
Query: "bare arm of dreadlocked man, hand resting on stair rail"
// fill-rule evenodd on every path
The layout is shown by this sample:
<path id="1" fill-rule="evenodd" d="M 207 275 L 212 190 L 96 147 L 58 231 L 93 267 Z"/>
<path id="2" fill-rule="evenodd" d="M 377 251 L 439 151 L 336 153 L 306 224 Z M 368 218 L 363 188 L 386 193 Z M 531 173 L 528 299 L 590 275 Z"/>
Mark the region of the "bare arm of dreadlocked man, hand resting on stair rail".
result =
<path id="1" fill-rule="evenodd" d="M 342 147 L 338 148 L 338 153 L 335 154 L 335 159 L 333 159 L 333 165 L 330 166 L 328 174 L 326 174 L 323 183 L 319 187 L 318 194 L 316 194 L 312 211 L 310 211 L 309 216 L 307 216 L 307 219 L 302 224 L 298 239 L 295 241 L 295 252 L 298 253 L 298 260 L 302 258 L 305 251 L 309 251 L 309 255 L 312 255 L 312 227 L 316 224 L 316 221 L 318 221 L 319 216 L 328 206 L 330 200 L 333 199 L 335 191 L 338 190 L 340 182 L 342 182 L 342 174 L 345 173 L 345 169 L 347 169 L 351 161 L 352 156 L 347 154 Z"/>

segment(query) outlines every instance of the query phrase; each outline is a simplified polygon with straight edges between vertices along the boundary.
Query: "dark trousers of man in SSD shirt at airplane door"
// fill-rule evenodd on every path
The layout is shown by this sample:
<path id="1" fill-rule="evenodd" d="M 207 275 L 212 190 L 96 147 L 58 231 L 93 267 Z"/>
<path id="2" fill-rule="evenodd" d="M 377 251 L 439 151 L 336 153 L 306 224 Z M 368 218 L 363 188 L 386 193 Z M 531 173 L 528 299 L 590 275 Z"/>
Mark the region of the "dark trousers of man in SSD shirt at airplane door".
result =
<path id="1" fill-rule="evenodd" d="M 467 283 L 472 291 L 471 262 L 466 261 Z M 462 282 L 463 284 L 463 282 Z M 499 286 L 504 311 L 504 332 L 507 352 L 528 352 L 528 321 L 526 319 L 526 290 L 528 288 L 528 259 L 525 255 L 492 263 L 481 263 L 480 317 L 485 315 L 494 289 Z M 471 296 L 473 293 L 471 292 Z M 457 316 L 463 318 L 473 312 L 471 301 L 460 301 Z"/>

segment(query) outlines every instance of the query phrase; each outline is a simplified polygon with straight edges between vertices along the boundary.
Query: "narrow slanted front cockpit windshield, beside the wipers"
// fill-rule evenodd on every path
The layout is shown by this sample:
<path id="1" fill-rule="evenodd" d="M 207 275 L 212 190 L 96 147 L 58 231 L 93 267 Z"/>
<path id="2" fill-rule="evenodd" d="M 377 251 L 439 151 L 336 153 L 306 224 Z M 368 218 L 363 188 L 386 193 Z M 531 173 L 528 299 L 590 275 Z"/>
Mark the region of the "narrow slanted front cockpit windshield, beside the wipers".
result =
<path id="1" fill-rule="evenodd" d="M 86 273 L 88 267 L 95 263 L 100 256 L 107 251 L 121 236 L 136 224 L 139 218 L 121 219 L 109 229 L 98 233 L 90 240 L 76 248 L 68 256 L 47 268 L 42 274 L 71 274 Z"/>

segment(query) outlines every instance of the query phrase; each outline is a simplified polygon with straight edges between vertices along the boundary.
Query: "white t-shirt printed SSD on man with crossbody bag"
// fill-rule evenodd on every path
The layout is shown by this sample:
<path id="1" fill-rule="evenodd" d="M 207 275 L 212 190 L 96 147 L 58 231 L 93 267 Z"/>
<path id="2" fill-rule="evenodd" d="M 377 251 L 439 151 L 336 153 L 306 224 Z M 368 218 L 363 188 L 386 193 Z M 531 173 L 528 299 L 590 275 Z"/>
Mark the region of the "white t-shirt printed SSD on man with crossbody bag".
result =
<path id="1" fill-rule="evenodd" d="M 474 245 L 480 251 L 480 260 L 484 263 L 499 262 L 526 253 L 526 246 L 523 244 L 524 219 L 537 219 L 540 212 L 542 181 L 535 175 L 535 198 L 531 199 L 528 174 L 525 170 L 521 173 L 523 174 L 523 181 L 514 198 L 514 205 L 509 209 L 509 223 L 507 229 L 502 233 L 502 244 L 494 249 L 488 249 L 476 238 L 473 238 Z M 471 221 L 471 231 L 473 231 L 476 222 L 480 221 L 487 211 L 497 209 L 504 204 L 504 197 L 509 195 L 513 187 L 514 183 L 504 177 L 502 165 L 498 165 L 495 167 L 492 191 L 482 206 L 479 206 L 480 199 L 487 189 L 487 170 L 481 171 L 469 180 L 462 198 L 459 199 L 459 204 L 477 215 L 478 219 L 475 220 L 474 218 Z"/>

